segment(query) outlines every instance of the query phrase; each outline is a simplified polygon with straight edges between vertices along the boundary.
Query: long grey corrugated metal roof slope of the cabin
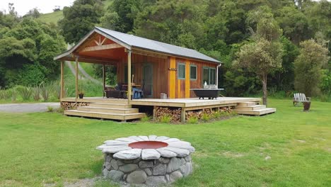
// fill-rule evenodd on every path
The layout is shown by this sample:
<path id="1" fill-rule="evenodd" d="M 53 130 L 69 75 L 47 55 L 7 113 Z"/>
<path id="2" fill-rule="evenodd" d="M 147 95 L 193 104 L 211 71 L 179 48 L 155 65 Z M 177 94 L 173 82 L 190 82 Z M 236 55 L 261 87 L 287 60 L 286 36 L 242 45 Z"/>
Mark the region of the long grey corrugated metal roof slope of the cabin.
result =
<path id="1" fill-rule="evenodd" d="M 106 35 L 110 35 L 111 37 L 116 38 L 117 40 L 120 40 L 132 47 L 139 47 L 154 52 L 163 52 L 169 55 L 175 55 L 179 57 L 189 57 L 197 60 L 205 60 L 209 62 L 221 63 L 219 62 L 219 60 L 215 60 L 214 58 L 208 57 L 207 55 L 204 55 L 201 52 L 197 52 L 196 50 L 191 50 L 176 45 L 170 45 L 168 43 L 158 42 L 155 40 L 149 40 L 135 35 L 120 33 L 106 28 L 100 28 L 100 27 L 95 27 L 95 28 L 105 33 Z"/>

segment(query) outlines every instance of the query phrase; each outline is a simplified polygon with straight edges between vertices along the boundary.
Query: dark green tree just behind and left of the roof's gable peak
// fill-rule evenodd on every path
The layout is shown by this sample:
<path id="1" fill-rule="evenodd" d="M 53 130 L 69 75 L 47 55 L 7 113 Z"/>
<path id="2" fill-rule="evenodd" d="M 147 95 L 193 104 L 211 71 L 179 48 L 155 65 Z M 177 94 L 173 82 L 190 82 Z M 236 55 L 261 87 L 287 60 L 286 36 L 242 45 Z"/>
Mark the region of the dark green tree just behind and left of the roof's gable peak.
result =
<path id="1" fill-rule="evenodd" d="M 71 7 L 64 7 L 64 18 L 59 21 L 66 42 L 78 42 L 103 16 L 103 4 L 97 0 L 77 0 Z"/>

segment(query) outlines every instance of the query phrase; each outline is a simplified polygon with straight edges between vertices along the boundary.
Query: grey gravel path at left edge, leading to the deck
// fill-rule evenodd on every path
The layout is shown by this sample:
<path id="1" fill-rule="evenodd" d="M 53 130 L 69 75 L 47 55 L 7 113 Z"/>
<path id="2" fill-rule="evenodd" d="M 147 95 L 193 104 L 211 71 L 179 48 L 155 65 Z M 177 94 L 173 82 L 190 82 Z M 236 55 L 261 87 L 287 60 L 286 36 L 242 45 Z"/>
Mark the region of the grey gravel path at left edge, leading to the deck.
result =
<path id="1" fill-rule="evenodd" d="M 0 104 L 0 112 L 5 113 L 37 113 L 47 111 L 47 106 L 59 108 L 59 103 L 13 103 Z"/>

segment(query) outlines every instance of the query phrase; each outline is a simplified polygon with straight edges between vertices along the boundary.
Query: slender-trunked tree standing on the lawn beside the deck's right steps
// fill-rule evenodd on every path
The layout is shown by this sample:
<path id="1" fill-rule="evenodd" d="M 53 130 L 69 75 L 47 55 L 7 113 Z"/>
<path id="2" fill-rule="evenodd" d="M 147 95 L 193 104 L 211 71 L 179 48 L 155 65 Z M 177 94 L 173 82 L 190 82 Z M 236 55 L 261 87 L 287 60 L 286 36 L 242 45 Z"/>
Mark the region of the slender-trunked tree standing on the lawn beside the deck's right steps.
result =
<path id="1" fill-rule="evenodd" d="M 262 81 L 263 104 L 267 105 L 267 76 L 281 67 L 281 29 L 267 6 L 250 11 L 247 22 L 256 32 L 252 31 L 252 42 L 240 48 L 234 64 L 257 74 Z"/>

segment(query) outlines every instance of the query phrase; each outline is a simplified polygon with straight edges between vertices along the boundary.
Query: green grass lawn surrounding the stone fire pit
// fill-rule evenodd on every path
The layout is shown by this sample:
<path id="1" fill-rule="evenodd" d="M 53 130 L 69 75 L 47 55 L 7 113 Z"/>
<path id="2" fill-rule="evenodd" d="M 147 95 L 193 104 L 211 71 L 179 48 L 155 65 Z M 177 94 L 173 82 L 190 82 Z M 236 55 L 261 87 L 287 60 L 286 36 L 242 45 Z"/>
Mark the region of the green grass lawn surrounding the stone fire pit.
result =
<path id="1" fill-rule="evenodd" d="M 95 147 L 130 135 L 192 142 L 194 172 L 174 186 L 331 186 L 331 103 L 313 101 L 309 113 L 290 100 L 269 106 L 277 113 L 195 125 L 0 113 L 0 186 L 62 186 L 100 176 L 103 155 Z"/>

